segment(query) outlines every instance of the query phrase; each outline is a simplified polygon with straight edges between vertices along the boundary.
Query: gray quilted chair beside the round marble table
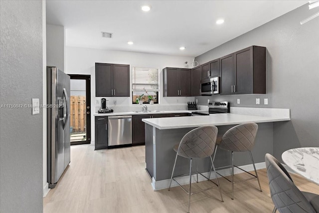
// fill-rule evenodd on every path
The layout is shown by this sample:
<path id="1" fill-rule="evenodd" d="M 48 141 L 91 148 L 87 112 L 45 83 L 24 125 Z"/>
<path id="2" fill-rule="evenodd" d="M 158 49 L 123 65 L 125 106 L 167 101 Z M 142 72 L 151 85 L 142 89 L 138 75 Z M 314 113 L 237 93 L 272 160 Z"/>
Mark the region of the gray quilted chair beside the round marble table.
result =
<path id="1" fill-rule="evenodd" d="M 301 192 L 287 170 L 270 154 L 265 156 L 273 213 L 319 213 L 319 195 Z"/>

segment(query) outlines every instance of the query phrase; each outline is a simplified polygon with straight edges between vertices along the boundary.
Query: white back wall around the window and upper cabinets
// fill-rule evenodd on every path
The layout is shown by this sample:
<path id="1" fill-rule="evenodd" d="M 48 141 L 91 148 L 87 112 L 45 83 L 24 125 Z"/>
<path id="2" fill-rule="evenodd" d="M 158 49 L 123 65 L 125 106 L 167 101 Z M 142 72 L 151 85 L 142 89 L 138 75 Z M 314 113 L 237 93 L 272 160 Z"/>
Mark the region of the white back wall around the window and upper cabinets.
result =
<path id="1" fill-rule="evenodd" d="M 94 143 L 94 111 L 100 107 L 101 97 L 95 97 L 95 63 L 130 64 L 131 66 L 160 68 L 160 87 L 162 88 L 162 69 L 164 67 L 184 67 L 184 62 L 191 63 L 193 58 L 160 54 L 147 54 L 137 52 L 112 51 L 79 47 L 66 47 L 66 67 L 68 74 L 91 75 L 91 143 Z M 132 92 L 130 92 L 132 96 Z M 117 109 L 132 109 L 132 97 L 108 97 L 110 107 Z M 172 107 L 187 105 L 187 101 L 193 101 L 193 97 L 162 97 L 160 91 L 160 104 L 152 107 Z M 115 104 L 116 103 L 116 104 Z M 115 106 L 116 105 L 116 106 Z M 127 110 L 130 111 L 130 110 Z"/>

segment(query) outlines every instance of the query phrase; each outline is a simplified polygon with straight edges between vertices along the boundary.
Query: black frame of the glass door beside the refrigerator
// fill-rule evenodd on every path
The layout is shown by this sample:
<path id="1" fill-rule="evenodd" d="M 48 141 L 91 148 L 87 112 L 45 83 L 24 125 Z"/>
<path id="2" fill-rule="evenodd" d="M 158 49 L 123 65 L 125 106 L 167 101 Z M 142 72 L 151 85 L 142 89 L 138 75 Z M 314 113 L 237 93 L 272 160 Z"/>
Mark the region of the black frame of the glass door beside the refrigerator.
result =
<path id="1" fill-rule="evenodd" d="M 68 74 L 70 79 L 85 80 L 86 106 L 89 106 L 89 116 L 86 117 L 86 141 L 71 142 L 71 145 L 91 144 L 91 75 Z"/>

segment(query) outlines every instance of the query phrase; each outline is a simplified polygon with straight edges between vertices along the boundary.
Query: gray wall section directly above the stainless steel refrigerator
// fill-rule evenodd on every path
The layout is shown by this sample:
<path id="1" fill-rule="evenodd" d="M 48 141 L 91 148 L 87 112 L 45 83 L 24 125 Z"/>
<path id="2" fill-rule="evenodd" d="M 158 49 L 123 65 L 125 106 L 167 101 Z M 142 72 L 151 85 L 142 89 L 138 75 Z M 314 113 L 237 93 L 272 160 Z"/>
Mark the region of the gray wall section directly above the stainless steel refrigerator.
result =
<path id="1" fill-rule="evenodd" d="M 64 26 L 46 25 L 46 64 L 56 66 L 64 72 L 65 67 Z"/>

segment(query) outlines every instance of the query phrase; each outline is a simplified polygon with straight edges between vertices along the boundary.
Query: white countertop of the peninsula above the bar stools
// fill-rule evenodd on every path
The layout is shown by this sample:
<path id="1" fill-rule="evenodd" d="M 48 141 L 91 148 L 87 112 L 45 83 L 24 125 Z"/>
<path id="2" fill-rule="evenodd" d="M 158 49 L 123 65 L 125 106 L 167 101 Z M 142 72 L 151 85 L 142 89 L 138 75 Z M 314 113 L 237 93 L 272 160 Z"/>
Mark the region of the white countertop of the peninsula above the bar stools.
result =
<path id="1" fill-rule="evenodd" d="M 158 129 L 179 129 L 199 127 L 204 125 L 234 125 L 247 122 L 265 123 L 276 121 L 290 121 L 290 115 L 242 115 L 233 113 L 211 114 L 209 116 L 188 116 L 188 117 L 171 117 L 171 118 L 147 118 L 142 119 L 147 124 L 150 124 Z"/>

